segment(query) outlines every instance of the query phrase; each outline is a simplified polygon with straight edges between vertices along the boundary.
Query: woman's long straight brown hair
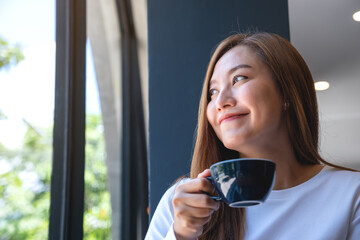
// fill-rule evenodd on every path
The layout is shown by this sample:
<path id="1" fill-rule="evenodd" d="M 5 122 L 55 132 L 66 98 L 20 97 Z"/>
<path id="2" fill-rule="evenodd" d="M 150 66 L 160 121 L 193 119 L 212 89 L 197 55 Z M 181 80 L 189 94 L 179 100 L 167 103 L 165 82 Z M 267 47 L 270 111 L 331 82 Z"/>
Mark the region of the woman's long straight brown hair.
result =
<path id="1" fill-rule="evenodd" d="M 206 117 L 209 103 L 209 81 L 218 60 L 235 46 L 247 46 L 271 70 L 286 104 L 286 124 L 297 161 L 301 164 L 324 163 L 318 151 L 319 118 L 316 92 L 311 72 L 298 51 L 284 38 L 273 33 L 234 34 L 215 49 L 202 89 L 197 138 L 190 176 L 195 178 L 212 164 L 239 154 L 227 149 L 217 138 Z M 199 239 L 243 239 L 245 235 L 245 209 L 221 204 L 211 221 L 204 226 Z"/>

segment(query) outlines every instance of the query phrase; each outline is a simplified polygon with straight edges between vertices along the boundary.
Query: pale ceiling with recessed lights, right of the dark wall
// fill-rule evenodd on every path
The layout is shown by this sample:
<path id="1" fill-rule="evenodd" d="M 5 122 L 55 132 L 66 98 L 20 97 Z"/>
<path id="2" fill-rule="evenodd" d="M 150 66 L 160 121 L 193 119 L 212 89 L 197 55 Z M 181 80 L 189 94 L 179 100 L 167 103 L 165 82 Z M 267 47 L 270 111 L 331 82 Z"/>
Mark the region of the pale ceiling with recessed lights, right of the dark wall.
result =
<path id="1" fill-rule="evenodd" d="M 359 0 L 289 0 L 290 38 L 318 92 L 321 152 L 334 163 L 360 169 L 360 22 L 352 15 Z"/>

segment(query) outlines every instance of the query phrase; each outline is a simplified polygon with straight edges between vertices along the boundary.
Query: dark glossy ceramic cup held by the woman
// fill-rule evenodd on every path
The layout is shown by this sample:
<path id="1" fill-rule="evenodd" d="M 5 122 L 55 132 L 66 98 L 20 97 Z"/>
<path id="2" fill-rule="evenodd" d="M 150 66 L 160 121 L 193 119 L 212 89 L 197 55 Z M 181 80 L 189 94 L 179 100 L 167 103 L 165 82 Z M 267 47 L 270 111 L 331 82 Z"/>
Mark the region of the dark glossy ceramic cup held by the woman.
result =
<path id="1" fill-rule="evenodd" d="M 263 203 L 275 182 L 275 163 L 267 159 L 239 158 L 213 164 L 211 177 L 218 196 L 215 200 L 230 207 L 248 207 Z"/>

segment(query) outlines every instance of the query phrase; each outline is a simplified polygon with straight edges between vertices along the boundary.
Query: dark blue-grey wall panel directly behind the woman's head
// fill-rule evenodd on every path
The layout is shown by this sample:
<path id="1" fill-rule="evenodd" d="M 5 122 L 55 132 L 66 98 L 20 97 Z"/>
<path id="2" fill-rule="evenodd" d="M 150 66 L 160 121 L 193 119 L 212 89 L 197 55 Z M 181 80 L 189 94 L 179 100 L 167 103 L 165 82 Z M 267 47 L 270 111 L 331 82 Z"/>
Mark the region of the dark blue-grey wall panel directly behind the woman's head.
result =
<path id="1" fill-rule="evenodd" d="M 148 0 L 150 215 L 165 190 L 189 172 L 212 50 L 249 29 L 289 39 L 287 0 Z"/>

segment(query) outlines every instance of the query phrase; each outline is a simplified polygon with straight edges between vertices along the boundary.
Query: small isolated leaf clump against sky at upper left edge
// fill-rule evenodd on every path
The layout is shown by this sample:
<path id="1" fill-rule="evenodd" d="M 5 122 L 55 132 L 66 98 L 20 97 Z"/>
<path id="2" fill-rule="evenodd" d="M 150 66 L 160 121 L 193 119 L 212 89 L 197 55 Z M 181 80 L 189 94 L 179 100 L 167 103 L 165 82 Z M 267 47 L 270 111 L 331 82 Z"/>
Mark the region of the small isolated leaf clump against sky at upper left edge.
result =
<path id="1" fill-rule="evenodd" d="M 0 69 L 9 69 L 24 59 L 19 45 L 10 45 L 0 36 Z"/>

